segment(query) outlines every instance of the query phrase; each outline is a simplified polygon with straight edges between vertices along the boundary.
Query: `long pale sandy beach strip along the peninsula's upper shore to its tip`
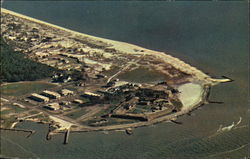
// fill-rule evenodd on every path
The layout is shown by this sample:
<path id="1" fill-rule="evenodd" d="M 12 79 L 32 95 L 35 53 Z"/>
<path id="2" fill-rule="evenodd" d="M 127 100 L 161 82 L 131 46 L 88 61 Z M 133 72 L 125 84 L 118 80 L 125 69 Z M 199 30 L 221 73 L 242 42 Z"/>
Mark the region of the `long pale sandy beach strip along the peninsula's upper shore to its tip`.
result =
<path id="1" fill-rule="evenodd" d="M 149 49 L 145 49 L 142 48 L 140 46 L 136 46 L 133 44 L 129 44 L 126 42 L 119 42 L 119 41 L 114 41 L 114 40 L 109 40 L 109 39 L 104 39 L 104 38 L 100 38 L 100 37 L 95 37 L 95 36 L 91 36 L 88 34 L 83 34 L 80 32 L 76 32 L 76 31 L 72 31 L 70 29 L 66 29 L 54 24 L 50 24 L 41 20 L 37 20 L 19 13 L 15 13 L 13 11 L 1 8 L 1 12 L 6 13 L 6 14 L 11 14 L 38 24 L 42 24 L 42 25 L 46 25 L 55 29 L 59 29 L 61 31 L 65 31 L 67 33 L 71 34 L 71 37 L 81 37 L 81 38 L 87 38 L 89 40 L 92 41 L 96 41 L 96 42 L 101 42 L 104 44 L 109 45 L 109 48 L 115 49 L 121 53 L 125 53 L 125 54 L 139 54 L 140 56 L 145 56 L 145 55 L 150 55 L 150 56 L 154 56 L 157 59 L 161 59 L 163 62 L 167 63 L 167 64 L 171 64 L 173 67 L 175 67 L 176 69 L 185 72 L 187 74 L 192 75 L 194 78 L 194 80 L 199 80 L 202 81 L 203 85 L 216 85 L 220 82 L 229 82 L 231 81 L 230 79 L 213 79 L 210 76 L 206 75 L 205 73 L 203 73 L 202 71 L 198 70 L 195 67 L 192 67 L 189 64 L 186 64 L 185 62 L 181 61 L 178 58 L 175 58 L 173 56 L 167 55 L 164 52 L 158 52 L 158 51 L 153 51 L 153 50 L 149 50 Z"/>

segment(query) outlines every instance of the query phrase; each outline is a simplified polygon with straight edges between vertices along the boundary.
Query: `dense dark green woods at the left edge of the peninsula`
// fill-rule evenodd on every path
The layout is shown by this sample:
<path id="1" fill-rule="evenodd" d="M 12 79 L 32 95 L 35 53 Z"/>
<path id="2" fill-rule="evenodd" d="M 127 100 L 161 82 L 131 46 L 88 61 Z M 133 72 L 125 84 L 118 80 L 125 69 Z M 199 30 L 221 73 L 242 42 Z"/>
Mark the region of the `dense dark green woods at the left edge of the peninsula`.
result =
<path id="1" fill-rule="evenodd" d="M 14 51 L 1 38 L 1 81 L 34 81 L 47 78 L 59 70 L 45 64 L 34 62 L 25 57 L 24 54 Z"/>

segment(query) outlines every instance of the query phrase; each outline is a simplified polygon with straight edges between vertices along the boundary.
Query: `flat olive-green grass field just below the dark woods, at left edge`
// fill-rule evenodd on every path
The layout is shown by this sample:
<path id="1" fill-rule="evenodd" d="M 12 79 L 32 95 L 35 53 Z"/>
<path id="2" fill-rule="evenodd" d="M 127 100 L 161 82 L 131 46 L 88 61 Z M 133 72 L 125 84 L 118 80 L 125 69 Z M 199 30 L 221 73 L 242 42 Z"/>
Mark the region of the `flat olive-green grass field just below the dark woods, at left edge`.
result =
<path id="1" fill-rule="evenodd" d="M 6 96 L 22 96 L 29 93 L 40 92 L 56 85 L 46 82 L 16 82 L 1 86 L 1 94 Z"/>

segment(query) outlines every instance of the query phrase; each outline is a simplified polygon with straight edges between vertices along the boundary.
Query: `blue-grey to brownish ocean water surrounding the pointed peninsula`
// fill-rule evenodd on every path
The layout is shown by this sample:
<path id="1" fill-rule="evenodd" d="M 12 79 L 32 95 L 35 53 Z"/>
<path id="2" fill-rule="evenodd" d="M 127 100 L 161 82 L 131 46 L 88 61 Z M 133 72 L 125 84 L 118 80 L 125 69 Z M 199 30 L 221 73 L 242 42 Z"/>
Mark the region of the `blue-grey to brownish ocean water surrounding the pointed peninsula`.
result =
<path id="1" fill-rule="evenodd" d="M 41 159 L 243 159 L 249 156 L 247 2 L 5 1 L 3 7 L 72 30 L 167 52 L 211 76 L 235 81 L 212 88 L 208 104 L 161 123 L 124 132 L 71 134 L 45 140 L 47 125 L 25 122 L 25 133 L 1 132 L 1 154 Z M 217 134 L 220 125 L 236 124 Z"/>

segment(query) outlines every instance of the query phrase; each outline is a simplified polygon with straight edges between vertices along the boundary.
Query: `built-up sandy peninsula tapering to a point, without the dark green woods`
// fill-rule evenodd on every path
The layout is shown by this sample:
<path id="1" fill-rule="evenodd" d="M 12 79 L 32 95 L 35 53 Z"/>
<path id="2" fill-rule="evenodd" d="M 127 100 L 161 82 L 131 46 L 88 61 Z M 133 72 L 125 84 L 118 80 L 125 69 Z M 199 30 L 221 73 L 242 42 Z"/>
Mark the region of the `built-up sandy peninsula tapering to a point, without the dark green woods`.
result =
<path id="1" fill-rule="evenodd" d="M 23 120 L 61 132 L 126 130 L 175 121 L 207 103 L 214 79 L 195 67 L 125 42 L 75 32 L 1 9 L 3 41 L 54 68 L 36 81 L 1 84 L 1 127 Z"/>

